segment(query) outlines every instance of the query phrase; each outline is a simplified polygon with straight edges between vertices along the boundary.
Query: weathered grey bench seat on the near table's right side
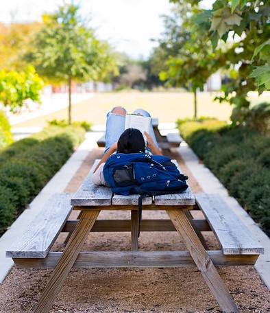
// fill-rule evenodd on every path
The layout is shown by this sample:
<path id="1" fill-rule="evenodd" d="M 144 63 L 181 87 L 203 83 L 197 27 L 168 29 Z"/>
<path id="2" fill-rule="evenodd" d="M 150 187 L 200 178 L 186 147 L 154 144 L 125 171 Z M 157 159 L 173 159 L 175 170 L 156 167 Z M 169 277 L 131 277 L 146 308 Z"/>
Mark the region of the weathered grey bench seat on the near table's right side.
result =
<path id="1" fill-rule="evenodd" d="M 197 205 L 204 212 L 225 255 L 260 254 L 264 248 L 218 194 L 196 194 Z"/>

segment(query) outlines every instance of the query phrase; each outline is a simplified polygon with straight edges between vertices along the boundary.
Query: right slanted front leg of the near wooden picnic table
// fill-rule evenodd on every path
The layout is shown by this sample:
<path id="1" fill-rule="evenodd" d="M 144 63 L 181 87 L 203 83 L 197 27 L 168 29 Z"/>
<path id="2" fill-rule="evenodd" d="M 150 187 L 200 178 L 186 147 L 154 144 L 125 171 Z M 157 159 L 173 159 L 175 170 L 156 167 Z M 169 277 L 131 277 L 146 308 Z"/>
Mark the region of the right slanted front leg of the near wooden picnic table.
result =
<path id="1" fill-rule="evenodd" d="M 173 222 L 175 229 L 180 233 L 186 248 L 193 258 L 197 268 L 201 271 L 208 287 L 217 299 L 223 312 L 239 312 L 234 299 L 225 286 L 223 280 L 219 276 L 217 269 L 214 267 L 212 260 L 208 257 L 204 246 L 201 244 L 197 234 L 195 233 L 188 218 L 183 210 L 169 209 L 167 210 L 169 218 Z"/>

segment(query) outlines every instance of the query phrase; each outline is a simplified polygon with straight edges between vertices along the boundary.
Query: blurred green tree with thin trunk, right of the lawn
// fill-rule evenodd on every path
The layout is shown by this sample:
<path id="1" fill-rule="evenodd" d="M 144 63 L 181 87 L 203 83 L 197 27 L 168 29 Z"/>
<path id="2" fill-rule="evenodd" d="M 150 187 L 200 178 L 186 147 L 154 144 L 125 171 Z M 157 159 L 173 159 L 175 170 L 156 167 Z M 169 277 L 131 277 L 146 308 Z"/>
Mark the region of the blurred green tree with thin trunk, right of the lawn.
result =
<path id="1" fill-rule="evenodd" d="M 223 57 L 211 51 L 210 41 L 196 36 L 191 16 L 199 12 L 197 5 L 179 1 L 171 16 L 165 16 L 164 38 L 158 51 L 167 56 L 166 67 L 160 79 L 167 84 L 185 86 L 194 93 L 194 117 L 197 118 L 197 89 L 203 89 Z M 162 55 L 162 54 L 161 54 Z"/>

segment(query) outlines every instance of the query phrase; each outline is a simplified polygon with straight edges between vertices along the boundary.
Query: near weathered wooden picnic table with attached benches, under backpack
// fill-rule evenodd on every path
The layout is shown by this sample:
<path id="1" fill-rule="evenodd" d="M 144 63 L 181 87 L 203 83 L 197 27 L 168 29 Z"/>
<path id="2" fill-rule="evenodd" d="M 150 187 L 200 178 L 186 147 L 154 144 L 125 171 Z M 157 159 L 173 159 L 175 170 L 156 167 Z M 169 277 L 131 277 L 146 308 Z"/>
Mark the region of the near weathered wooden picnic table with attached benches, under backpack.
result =
<path id="1" fill-rule="evenodd" d="M 93 168 L 99 160 L 96 160 Z M 54 268 L 34 312 L 49 312 L 71 268 L 197 266 L 223 312 L 238 312 L 215 266 L 254 265 L 264 249 L 217 194 L 182 194 L 143 199 L 143 210 L 166 210 L 167 220 L 142 220 L 140 231 L 177 231 L 187 251 L 138 251 L 138 195 L 114 195 L 110 188 L 93 185 L 93 170 L 75 194 L 56 194 L 14 242 L 7 257 L 18 268 Z M 195 219 L 199 208 L 205 218 Z M 77 220 L 69 220 L 79 210 Z M 97 220 L 102 210 L 130 210 L 130 220 Z M 209 250 L 201 231 L 212 230 L 220 248 Z M 131 251 L 81 251 L 90 231 L 130 231 Z M 71 233 L 63 252 L 51 246 L 60 232 Z"/>

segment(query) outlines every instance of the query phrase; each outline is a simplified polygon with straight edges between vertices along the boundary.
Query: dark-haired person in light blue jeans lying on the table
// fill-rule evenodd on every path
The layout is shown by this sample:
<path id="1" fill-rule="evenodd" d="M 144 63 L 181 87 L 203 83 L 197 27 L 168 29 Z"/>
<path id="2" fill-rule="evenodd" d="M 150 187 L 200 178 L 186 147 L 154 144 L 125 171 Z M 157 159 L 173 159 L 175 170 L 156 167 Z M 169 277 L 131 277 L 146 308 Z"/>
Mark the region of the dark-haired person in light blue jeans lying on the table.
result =
<path id="1" fill-rule="evenodd" d="M 150 127 L 149 134 L 145 132 L 147 139 L 147 146 L 145 146 L 145 139 L 140 130 L 135 128 L 127 128 L 125 130 L 125 115 L 127 111 L 122 106 L 116 106 L 107 115 L 105 140 L 106 146 L 104 154 L 97 164 L 92 176 L 92 181 L 95 185 L 105 185 L 106 181 L 103 176 L 103 167 L 114 152 L 116 153 L 138 153 L 151 152 L 151 154 L 160 154 L 162 152 L 158 148 L 158 142 L 154 134 L 153 127 Z M 143 109 L 137 109 L 134 114 L 150 117 L 149 113 Z"/>

